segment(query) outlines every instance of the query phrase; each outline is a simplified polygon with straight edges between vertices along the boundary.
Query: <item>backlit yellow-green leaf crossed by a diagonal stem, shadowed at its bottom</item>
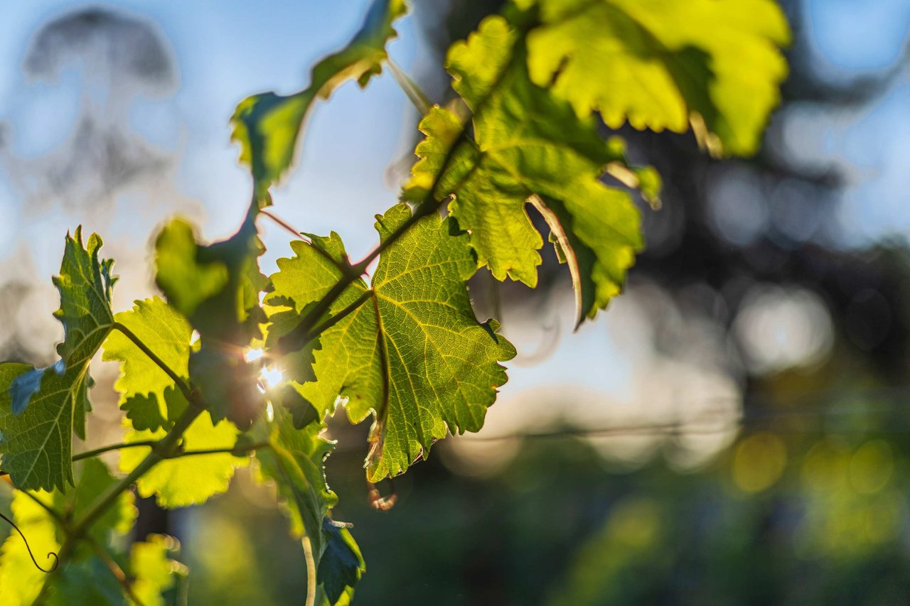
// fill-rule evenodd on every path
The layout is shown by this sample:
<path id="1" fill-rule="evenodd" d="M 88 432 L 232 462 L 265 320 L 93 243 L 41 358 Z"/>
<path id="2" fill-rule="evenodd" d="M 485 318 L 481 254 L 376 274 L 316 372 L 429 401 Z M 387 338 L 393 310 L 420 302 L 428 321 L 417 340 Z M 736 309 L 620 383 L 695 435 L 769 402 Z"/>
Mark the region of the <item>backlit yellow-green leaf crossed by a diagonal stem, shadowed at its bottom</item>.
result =
<path id="1" fill-rule="evenodd" d="M 160 298 L 147 298 L 114 319 L 178 377 L 189 379 L 193 328 L 175 308 Z M 126 410 L 134 429 L 170 427 L 187 408 L 187 399 L 174 380 L 122 332 L 115 330 L 107 337 L 102 359 L 122 362 L 114 389 L 120 392 L 120 408 Z"/>

